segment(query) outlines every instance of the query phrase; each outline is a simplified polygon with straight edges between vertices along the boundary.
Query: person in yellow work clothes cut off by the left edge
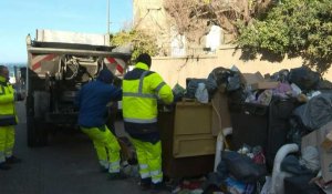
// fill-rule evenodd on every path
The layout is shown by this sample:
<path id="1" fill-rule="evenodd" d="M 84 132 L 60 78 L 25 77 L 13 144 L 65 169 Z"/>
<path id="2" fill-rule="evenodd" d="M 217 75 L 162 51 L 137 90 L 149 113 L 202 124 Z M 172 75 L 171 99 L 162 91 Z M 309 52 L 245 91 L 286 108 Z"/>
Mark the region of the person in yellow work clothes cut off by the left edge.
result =
<path id="1" fill-rule="evenodd" d="M 9 70 L 0 65 L 0 170 L 9 170 L 8 164 L 21 161 L 12 153 L 17 124 L 14 109 L 14 90 L 9 83 Z"/>

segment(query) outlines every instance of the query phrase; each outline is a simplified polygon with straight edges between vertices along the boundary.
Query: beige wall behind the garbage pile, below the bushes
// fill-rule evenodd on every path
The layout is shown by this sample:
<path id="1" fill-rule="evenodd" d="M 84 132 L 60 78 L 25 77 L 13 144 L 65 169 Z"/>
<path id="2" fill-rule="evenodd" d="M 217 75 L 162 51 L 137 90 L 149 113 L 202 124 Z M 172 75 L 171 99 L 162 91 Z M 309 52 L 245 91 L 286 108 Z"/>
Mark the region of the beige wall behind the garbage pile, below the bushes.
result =
<path id="1" fill-rule="evenodd" d="M 260 60 L 260 58 L 243 61 L 240 57 L 241 51 L 235 51 L 234 47 L 225 45 L 214 55 L 154 58 L 152 70 L 158 72 L 170 86 L 174 86 L 176 83 L 185 86 L 186 78 L 207 78 L 208 74 L 218 67 L 231 68 L 235 64 L 242 73 L 255 73 L 259 71 L 261 74 L 272 74 L 282 69 L 290 70 L 301 67 L 303 63 L 301 58 L 286 58 L 281 62 L 269 62 Z M 331 68 L 324 74 L 324 79 L 332 81 Z"/>

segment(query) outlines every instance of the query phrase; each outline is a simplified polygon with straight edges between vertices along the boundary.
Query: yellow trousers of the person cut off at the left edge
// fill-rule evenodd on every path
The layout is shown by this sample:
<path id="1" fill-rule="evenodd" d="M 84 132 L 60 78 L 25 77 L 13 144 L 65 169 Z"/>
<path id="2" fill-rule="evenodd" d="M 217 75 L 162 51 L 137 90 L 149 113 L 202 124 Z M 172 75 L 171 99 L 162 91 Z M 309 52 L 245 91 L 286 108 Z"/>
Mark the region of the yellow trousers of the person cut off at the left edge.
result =
<path id="1" fill-rule="evenodd" d="M 0 163 L 12 156 L 14 136 L 14 126 L 0 126 Z"/>

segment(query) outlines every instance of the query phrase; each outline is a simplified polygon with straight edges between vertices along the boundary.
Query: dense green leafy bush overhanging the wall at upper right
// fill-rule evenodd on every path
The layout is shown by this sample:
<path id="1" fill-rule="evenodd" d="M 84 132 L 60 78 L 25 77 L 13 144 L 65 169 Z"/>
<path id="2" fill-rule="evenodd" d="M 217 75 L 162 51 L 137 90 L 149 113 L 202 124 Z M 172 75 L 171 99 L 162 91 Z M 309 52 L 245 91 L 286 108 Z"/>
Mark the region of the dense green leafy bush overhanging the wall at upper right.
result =
<path id="1" fill-rule="evenodd" d="M 319 72 L 331 67 L 331 0 L 282 0 L 267 17 L 238 27 L 237 44 L 247 53 L 302 57 Z"/>

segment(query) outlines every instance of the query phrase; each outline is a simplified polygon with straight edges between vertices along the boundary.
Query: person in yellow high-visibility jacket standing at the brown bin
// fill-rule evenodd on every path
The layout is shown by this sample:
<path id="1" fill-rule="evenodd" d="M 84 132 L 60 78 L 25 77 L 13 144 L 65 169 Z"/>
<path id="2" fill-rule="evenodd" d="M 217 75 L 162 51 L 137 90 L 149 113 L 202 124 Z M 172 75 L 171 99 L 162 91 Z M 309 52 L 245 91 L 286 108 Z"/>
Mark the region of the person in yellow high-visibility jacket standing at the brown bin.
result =
<path id="1" fill-rule="evenodd" d="M 162 144 L 157 129 L 157 101 L 173 102 L 173 91 L 162 76 L 149 71 L 152 59 L 141 54 L 123 80 L 123 118 L 139 163 L 141 186 L 164 188 Z"/>

